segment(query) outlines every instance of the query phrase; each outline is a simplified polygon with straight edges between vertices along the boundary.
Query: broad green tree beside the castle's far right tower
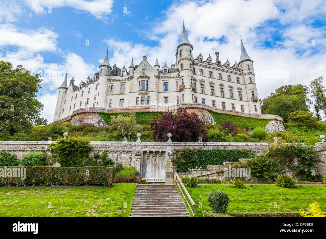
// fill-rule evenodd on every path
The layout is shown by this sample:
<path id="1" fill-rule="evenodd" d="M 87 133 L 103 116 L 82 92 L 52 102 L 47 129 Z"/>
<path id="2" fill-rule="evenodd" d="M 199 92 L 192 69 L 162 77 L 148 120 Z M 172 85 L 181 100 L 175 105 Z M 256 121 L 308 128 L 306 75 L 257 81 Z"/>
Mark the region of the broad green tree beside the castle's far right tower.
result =
<path id="1" fill-rule="evenodd" d="M 262 100 L 261 112 L 279 115 L 287 122 L 291 112 L 308 111 L 307 103 L 311 102 L 307 97 L 308 91 L 309 87 L 301 84 L 280 86 L 271 96 Z"/>

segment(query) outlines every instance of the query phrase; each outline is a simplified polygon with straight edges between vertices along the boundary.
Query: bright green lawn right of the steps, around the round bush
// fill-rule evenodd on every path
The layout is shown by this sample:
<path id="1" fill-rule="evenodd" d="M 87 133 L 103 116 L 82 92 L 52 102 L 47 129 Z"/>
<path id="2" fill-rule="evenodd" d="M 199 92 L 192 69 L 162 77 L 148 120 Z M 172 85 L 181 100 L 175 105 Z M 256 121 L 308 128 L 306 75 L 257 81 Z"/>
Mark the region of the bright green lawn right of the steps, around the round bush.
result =
<path id="1" fill-rule="evenodd" d="M 246 185 L 245 189 L 231 188 L 228 185 L 198 185 L 198 188 L 186 188 L 196 203 L 196 216 L 211 211 L 207 195 L 214 190 L 222 190 L 230 199 L 228 212 L 297 212 L 308 208 L 312 202 L 318 202 L 326 210 L 326 186 L 298 185 L 293 189 L 276 185 Z M 200 203 L 202 208 L 200 208 Z M 277 208 L 274 208 L 277 203 Z"/>

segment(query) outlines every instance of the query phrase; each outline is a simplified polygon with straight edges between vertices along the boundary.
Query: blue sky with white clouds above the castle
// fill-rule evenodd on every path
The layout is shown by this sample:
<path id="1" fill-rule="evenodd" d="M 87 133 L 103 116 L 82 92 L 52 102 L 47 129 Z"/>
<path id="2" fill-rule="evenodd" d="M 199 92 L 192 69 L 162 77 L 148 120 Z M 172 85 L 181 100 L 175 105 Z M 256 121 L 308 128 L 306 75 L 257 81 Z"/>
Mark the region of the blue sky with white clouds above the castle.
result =
<path id="1" fill-rule="evenodd" d="M 185 22 L 196 58 L 240 58 L 240 35 L 254 60 L 259 98 L 286 84 L 326 77 L 324 0 L 1 0 L 0 60 L 43 77 L 38 99 L 52 122 L 58 86 L 93 76 L 109 47 L 111 65 L 132 55 L 161 66 L 175 62 Z"/>

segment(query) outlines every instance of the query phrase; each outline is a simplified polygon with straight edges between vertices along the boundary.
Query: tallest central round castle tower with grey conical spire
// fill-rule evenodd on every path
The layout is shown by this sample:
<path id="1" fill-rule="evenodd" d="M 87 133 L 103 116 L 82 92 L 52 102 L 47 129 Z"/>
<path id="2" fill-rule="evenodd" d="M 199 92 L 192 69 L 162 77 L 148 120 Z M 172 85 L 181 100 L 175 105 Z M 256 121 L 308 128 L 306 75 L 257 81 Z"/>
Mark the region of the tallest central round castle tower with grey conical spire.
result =
<path id="1" fill-rule="evenodd" d="M 185 23 L 183 24 L 181 40 L 179 46 L 177 47 L 177 68 L 180 72 L 180 82 L 179 89 L 180 92 L 180 102 L 181 103 L 192 103 L 193 90 L 191 84 L 193 82 L 193 58 L 192 58 L 193 47 L 188 40 L 187 33 L 185 31 Z"/>

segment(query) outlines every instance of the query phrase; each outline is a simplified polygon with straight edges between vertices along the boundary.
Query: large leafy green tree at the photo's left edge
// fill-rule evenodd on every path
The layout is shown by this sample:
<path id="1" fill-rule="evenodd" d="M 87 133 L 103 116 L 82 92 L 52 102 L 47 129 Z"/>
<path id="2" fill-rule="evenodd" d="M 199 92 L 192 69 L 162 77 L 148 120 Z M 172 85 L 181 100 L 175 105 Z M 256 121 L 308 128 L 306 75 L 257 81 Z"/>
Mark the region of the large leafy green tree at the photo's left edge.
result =
<path id="1" fill-rule="evenodd" d="M 11 63 L 0 61 L 0 132 L 7 130 L 12 135 L 36 125 L 43 110 L 36 99 L 41 81 L 22 65 L 13 68 Z"/>

